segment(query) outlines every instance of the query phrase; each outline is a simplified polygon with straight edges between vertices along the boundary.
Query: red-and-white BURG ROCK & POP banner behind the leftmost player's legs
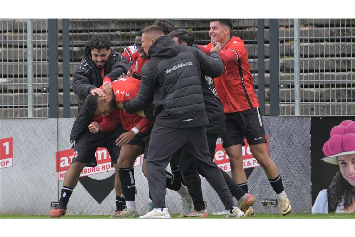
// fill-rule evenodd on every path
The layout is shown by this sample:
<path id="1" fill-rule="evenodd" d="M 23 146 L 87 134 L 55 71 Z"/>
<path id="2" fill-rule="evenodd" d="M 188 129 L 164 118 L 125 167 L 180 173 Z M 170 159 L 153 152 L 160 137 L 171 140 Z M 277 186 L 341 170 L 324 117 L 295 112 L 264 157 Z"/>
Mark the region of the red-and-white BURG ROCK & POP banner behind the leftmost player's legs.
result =
<path id="1" fill-rule="evenodd" d="M 64 180 L 65 173 L 69 169 L 71 161 L 73 159 L 74 149 L 55 152 L 56 156 L 56 181 Z M 114 167 L 111 167 L 111 157 L 108 150 L 105 147 L 98 147 L 95 152 L 97 166 L 86 166 L 80 173 L 80 177 L 88 176 L 91 174 L 98 174 L 108 171 L 115 171 Z M 134 166 L 141 165 L 141 156 L 138 156 L 134 162 Z"/>

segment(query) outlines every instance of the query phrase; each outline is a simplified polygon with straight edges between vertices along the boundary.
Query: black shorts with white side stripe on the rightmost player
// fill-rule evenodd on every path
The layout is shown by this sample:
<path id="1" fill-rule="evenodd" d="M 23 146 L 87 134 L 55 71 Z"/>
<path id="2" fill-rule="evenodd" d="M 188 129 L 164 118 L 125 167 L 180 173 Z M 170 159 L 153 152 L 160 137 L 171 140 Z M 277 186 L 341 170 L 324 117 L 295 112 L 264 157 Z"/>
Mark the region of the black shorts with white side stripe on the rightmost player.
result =
<path id="1" fill-rule="evenodd" d="M 260 109 L 224 113 L 226 132 L 222 134 L 223 148 L 237 144 L 245 145 L 244 137 L 250 145 L 266 142 L 265 130 Z"/>

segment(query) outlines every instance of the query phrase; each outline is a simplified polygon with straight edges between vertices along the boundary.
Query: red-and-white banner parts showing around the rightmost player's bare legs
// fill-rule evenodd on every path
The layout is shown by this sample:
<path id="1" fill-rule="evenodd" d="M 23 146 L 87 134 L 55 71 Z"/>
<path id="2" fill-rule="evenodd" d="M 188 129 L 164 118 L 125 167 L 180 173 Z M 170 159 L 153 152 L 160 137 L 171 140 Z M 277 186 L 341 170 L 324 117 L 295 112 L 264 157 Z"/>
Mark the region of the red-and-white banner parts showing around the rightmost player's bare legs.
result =
<path id="1" fill-rule="evenodd" d="M 269 135 L 265 135 L 267 140 L 266 151 L 269 153 Z M 242 155 L 243 155 L 243 168 L 248 169 L 256 166 L 260 166 L 259 163 L 253 157 L 250 146 L 246 139 L 245 146 L 242 146 Z M 228 155 L 225 153 L 222 144 L 217 144 L 216 151 L 214 153 L 214 162 L 218 165 L 219 168 L 223 169 L 225 172 L 230 172 L 230 163 Z"/>

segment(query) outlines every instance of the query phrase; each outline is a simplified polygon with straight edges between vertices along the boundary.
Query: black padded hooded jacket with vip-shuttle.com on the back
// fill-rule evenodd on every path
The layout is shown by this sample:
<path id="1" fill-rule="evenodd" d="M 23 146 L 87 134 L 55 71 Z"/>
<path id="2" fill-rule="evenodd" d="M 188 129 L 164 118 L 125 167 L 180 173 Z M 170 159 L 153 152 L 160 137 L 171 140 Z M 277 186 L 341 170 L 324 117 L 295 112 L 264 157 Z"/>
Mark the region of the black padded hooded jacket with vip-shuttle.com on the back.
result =
<path id="1" fill-rule="evenodd" d="M 146 109 L 155 102 L 155 124 L 189 128 L 208 124 L 201 88 L 201 72 L 218 77 L 223 64 L 217 53 L 176 44 L 168 36 L 149 48 L 151 59 L 143 65 L 138 95 L 124 103 L 128 113 Z"/>

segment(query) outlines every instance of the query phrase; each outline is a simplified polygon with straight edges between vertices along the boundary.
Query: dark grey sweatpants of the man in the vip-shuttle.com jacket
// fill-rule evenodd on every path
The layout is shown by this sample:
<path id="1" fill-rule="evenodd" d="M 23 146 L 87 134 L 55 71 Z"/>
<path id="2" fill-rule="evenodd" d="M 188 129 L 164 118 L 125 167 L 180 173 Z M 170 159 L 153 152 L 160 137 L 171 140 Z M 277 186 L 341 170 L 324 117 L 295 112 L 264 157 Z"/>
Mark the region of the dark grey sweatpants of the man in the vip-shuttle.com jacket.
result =
<path id="1" fill-rule="evenodd" d="M 210 158 L 206 127 L 169 128 L 157 124 L 152 129 L 147 157 L 147 178 L 153 198 L 153 208 L 165 208 L 165 168 L 180 147 L 193 156 L 197 165 L 211 181 L 225 209 L 232 208 L 233 197 L 219 167 Z"/>

